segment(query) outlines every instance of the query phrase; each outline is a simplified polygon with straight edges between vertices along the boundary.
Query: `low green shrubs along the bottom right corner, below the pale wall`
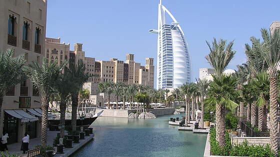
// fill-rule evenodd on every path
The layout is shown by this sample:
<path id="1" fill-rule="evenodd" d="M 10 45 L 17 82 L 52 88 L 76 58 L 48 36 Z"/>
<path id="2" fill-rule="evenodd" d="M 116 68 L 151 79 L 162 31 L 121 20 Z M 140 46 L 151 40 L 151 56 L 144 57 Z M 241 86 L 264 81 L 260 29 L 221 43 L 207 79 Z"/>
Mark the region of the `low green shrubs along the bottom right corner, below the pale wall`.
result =
<path id="1" fill-rule="evenodd" d="M 225 147 L 220 148 L 216 141 L 215 128 L 210 129 L 211 155 L 212 156 L 237 156 L 237 157 L 274 157 L 269 145 L 248 145 L 245 140 L 242 144 L 231 145 L 229 134 L 225 133 Z M 279 152 L 278 152 L 279 154 Z"/>

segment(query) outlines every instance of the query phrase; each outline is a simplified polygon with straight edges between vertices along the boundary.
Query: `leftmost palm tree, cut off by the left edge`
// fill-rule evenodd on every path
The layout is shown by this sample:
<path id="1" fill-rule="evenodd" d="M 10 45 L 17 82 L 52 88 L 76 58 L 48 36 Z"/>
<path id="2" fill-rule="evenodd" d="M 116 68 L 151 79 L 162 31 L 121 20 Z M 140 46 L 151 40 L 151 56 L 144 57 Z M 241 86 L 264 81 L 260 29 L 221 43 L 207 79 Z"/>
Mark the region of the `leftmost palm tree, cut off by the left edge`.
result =
<path id="1" fill-rule="evenodd" d="M 13 57 L 12 48 L 8 48 L 5 52 L 0 51 L 0 111 L 5 94 L 20 83 L 24 63 L 23 55 Z"/>

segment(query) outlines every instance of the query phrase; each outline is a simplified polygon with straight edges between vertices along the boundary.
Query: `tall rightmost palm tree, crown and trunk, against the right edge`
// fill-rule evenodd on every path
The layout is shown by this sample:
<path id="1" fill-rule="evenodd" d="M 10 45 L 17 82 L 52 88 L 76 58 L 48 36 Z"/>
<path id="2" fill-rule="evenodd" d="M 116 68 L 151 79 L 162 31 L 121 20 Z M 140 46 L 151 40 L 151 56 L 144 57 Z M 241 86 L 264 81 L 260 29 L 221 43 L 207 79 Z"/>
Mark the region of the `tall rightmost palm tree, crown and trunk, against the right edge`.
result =
<path id="1" fill-rule="evenodd" d="M 263 51 L 265 63 L 268 66 L 269 73 L 269 105 L 270 105 L 270 147 L 277 155 L 277 67 L 280 62 L 280 32 L 275 29 L 273 34 L 269 34 L 266 29 L 261 29 L 263 39 Z M 254 42 L 253 42 L 254 45 Z"/>

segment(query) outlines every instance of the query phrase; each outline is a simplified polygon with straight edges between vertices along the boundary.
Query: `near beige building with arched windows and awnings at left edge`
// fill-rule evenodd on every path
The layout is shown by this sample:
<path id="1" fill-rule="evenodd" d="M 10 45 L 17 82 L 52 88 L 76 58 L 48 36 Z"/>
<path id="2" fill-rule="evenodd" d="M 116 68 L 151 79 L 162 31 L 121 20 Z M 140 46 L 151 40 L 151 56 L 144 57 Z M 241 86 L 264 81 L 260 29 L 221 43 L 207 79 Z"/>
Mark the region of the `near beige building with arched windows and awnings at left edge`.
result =
<path id="1" fill-rule="evenodd" d="M 41 64 L 44 54 L 46 0 L 0 0 L 0 51 L 11 47 L 14 55 L 24 55 L 27 64 Z M 40 137 L 41 107 L 38 91 L 24 80 L 4 96 L 0 135 L 8 132 L 8 144 L 20 142 L 25 132 L 30 139 Z"/>

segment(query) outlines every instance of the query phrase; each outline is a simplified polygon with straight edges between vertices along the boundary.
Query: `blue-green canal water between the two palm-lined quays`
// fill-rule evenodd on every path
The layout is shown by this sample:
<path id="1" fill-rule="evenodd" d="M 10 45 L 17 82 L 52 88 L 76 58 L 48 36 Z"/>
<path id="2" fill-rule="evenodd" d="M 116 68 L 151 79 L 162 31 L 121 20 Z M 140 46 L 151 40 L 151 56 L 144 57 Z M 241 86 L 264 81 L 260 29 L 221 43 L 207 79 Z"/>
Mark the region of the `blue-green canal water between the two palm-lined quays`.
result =
<path id="1" fill-rule="evenodd" d="M 168 120 L 98 117 L 92 124 L 94 140 L 73 157 L 203 157 L 206 134 L 178 131 Z"/>

